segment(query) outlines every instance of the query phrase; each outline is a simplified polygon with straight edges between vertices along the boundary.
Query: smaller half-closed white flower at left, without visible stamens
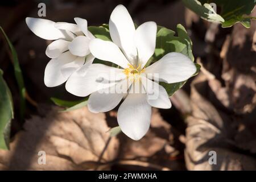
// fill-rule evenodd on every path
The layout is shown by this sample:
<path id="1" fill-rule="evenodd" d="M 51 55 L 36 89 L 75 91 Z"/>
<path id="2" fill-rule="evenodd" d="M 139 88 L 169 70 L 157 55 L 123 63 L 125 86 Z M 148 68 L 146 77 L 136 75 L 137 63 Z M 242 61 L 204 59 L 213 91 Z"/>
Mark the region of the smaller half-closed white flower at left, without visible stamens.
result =
<path id="1" fill-rule="evenodd" d="M 85 19 L 75 18 L 75 22 L 77 24 L 26 18 L 28 28 L 35 35 L 55 40 L 46 49 L 46 55 L 51 58 L 44 72 L 44 83 L 48 87 L 63 84 L 82 65 L 89 67 L 93 62 L 89 42 L 94 36 L 87 30 Z"/>

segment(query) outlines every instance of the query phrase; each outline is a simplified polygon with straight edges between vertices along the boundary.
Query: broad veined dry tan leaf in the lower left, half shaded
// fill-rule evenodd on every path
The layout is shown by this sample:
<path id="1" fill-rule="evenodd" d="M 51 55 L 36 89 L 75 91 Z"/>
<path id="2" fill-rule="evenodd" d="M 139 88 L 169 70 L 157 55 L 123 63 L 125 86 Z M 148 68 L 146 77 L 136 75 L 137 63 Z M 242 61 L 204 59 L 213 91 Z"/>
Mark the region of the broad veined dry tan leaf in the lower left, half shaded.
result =
<path id="1" fill-rule="evenodd" d="M 119 146 L 115 137 L 102 155 L 110 137 L 104 113 L 90 113 L 87 107 L 67 113 L 58 110 L 59 107 L 51 107 L 44 111 L 45 118 L 28 119 L 24 131 L 11 143 L 10 151 L 0 150 L 0 168 L 85 170 L 96 167 L 100 158 L 100 162 L 115 159 Z M 39 151 L 46 152 L 46 165 L 38 164 Z"/>

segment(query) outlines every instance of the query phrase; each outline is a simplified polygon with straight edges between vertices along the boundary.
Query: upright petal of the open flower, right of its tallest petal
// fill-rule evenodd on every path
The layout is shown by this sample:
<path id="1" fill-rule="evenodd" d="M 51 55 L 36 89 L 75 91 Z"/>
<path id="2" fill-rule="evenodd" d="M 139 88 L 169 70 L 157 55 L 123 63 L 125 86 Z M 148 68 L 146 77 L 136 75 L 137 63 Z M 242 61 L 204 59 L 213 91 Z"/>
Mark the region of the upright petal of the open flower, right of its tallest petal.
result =
<path id="1" fill-rule="evenodd" d="M 141 24 L 135 32 L 135 43 L 138 49 L 138 59 L 143 68 L 155 52 L 157 26 L 155 22 Z"/>

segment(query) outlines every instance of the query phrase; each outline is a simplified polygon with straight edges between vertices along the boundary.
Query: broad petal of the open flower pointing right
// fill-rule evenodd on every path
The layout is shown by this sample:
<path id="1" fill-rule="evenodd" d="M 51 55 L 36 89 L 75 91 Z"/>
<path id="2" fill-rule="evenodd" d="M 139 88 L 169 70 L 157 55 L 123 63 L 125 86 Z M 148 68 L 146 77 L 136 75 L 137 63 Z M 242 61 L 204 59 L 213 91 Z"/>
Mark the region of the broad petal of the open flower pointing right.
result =
<path id="1" fill-rule="evenodd" d="M 156 74 L 152 78 L 158 78 L 169 84 L 187 80 L 196 72 L 195 64 L 189 57 L 178 52 L 167 53 L 162 59 L 156 61 L 145 69 L 145 73 Z"/>

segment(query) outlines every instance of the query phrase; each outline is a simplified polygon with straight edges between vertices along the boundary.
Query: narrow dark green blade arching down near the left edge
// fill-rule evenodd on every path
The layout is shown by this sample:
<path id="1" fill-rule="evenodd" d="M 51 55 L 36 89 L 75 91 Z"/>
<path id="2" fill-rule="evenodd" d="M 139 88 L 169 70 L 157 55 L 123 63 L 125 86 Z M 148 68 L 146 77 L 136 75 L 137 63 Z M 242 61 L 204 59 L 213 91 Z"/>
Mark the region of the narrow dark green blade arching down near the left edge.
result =
<path id="1" fill-rule="evenodd" d="M 26 88 L 24 86 L 24 80 L 23 80 L 23 75 L 22 75 L 22 71 L 20 69 L 19 66 L 19 60 L 18 60 L 18 56 L 16 53 L 16 50 L 13 46 L 13 44 L 10 42 L 9 38 L 7 37 L 7 35 L 5 34 L 5 31 L 3 31 L 3 28 L 0 27 L 0 30 L 2 31 L 2 34 L 5 36 L 5 39 L 7 41 L 7 43 L 9 44 L 10 50 L 11 50 L 11 55 L 13 58 L 13 64 L 14 64 L 14 74 L 15 74 L 15 78 L 16 81 L 18 82 L 18 86 L 19 86 L 19 94 L 20 94 L 20 119 L 24 118 L 24 112 L 26 109 Z"/>

